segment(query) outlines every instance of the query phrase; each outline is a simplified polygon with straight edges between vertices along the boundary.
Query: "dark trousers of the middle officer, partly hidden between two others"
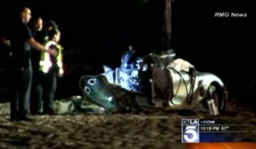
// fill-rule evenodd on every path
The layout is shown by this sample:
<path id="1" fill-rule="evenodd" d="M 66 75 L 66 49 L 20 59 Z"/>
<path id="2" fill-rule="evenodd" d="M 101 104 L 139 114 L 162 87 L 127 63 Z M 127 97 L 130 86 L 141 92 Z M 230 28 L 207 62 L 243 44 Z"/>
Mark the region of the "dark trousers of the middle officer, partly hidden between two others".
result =
<path id="1" fill-rule="evenodd" d="M 34 65 L 32 84 L 31 84 L 31 94 L 30 94 L 30 113 L 31 114 L 39 113 L 41 112 L 41 109 L 42 109 L 43 89 L 42 89 L 42 86 L 40 85 L 41 80 L 42 79 L 39 72 L 39 65 Z"/>

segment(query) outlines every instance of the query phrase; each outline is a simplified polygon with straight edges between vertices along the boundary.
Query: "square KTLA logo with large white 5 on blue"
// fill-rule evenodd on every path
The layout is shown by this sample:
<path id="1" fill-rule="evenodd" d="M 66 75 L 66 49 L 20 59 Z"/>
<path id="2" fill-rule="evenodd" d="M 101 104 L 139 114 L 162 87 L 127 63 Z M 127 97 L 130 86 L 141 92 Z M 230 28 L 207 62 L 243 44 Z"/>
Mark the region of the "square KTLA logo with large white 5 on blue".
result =
<path id="1" fill-rule="evenodd" d="M 192 125 L 192 123 L 194 123 L 195 125 Z M 199 120 L 195 120 L 195 119 L 182 120 L 182 124 L 183 124 L 182 125 L 182 143 L 199 143 L 198 123 L 199 123 Z"/>

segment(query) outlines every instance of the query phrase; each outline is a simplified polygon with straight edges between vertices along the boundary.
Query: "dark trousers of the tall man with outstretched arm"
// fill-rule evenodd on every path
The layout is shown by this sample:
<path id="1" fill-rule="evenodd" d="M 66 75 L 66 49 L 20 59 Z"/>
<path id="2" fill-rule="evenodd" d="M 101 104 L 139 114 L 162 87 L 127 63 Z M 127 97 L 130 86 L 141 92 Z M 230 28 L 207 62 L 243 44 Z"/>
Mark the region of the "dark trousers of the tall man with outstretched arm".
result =
<path id="1" fill-rule="evenodd" d="M 9 69 L 11 119 L 25 118 L 29 112 L 32 69 L 31 67 Z"/>

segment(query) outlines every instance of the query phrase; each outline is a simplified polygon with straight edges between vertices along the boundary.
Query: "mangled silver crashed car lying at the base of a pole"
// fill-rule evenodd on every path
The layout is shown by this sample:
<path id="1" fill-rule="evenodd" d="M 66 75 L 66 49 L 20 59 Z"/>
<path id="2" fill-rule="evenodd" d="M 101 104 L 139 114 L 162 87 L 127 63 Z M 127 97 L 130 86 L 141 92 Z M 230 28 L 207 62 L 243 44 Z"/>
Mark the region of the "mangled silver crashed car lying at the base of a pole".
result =
<path id="1" fill-rule="evenodd" d="M 198 72 L 189 62 L 176 59 L 173 49 L 150 53 L 130 62 L 131 48 L 120 68 L 106 66 L 105 73 L 79 80 L 85 100 L 106 113 L 140 113 L 147 110 L 198 110 L 219 115 L 227 92 L 220 78 Z"/>

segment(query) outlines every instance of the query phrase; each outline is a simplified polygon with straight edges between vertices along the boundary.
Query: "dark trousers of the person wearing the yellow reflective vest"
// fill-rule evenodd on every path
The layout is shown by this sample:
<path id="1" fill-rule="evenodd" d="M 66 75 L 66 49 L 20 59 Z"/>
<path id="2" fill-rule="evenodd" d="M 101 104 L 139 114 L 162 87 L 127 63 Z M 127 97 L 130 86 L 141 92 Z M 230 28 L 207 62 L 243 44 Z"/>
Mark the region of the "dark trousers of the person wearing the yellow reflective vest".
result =
<path id="1" fill-rule="evenodd" d="M 53 100 L 57 89 L 57 75 L 41 72 L 41 85 L 43 88 L 43 113 L 52 114 Z"/>

